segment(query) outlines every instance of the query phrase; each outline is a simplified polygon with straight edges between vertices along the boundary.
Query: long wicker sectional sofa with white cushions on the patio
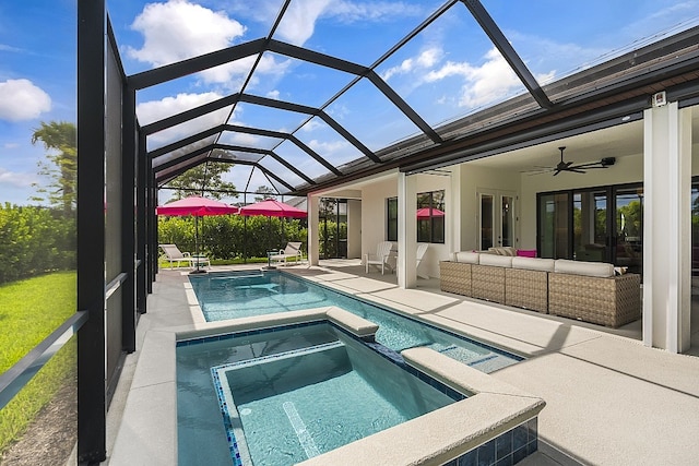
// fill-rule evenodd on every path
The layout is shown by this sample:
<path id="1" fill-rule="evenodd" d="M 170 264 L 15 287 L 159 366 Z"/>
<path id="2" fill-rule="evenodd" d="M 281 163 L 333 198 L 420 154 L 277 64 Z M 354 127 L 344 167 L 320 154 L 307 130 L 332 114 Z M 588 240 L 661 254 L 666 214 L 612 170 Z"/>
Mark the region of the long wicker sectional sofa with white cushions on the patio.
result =
<path id="1" fill-rule="evenodd" d="M 640 276 L 612 264 L 458 252 L 440 262 L 441 290 L 618 327 L 640 318 Z"/>

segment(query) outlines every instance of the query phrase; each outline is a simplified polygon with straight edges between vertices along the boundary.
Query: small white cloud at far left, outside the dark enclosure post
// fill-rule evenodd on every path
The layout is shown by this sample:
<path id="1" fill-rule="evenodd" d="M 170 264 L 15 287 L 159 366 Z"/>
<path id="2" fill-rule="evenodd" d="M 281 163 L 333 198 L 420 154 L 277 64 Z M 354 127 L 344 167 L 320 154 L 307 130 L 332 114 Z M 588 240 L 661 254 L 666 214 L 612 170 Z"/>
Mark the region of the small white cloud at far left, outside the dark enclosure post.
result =
<path id="1" fill-rule="evenodd" d="M 0 82 L 0 120 L 33 120 L 50 109 L 49 95 L 29 80 Z"/>

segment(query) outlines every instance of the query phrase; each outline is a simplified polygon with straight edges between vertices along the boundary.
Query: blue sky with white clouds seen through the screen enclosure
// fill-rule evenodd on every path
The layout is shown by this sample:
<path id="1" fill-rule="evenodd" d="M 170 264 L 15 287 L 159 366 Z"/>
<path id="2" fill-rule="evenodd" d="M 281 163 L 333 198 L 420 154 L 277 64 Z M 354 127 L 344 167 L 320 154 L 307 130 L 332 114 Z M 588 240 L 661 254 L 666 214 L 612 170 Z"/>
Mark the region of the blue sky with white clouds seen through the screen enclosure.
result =
<path id="1" fill-rule="evenodd" d="M 31 143 L 40 122 L 75 121 L 75 0 L 0 3 L 0 202 L 27 204 L 44 147 Z M 443 2 L 294 0 L 274 38 L 371 65 Z M 280 0 L 108 1 L 110 20 L 127 74 L 265 37 Z M 483 0 L 540 83 L 550 82 L 639 45 L 699 24 L 699 0 L 593 0 L 561 2 Z M 252 58 L 218 67 L 138 95 L 142 124 L 240 91 Z M 379 64 L 377 73 L 429 124 L 477 111 L 523 92 L 466 8 L 458 2 L 434 24 Z M 320 106 L 354 76 L 283 56 L 265 53 L 249 94 Z M 417 128 L 366 82 L 325 111 L 377 151 L 417 133 Z M 190 126 L 173 128 L 149 141 L 151 148 L 222 122 L 227 110 Z M 230 123 L 291 131 L 306 117 L 239 105 Z M 297 136 L 333 165 L 359 154 L 331 128 L 313 119 Z M 229 143 L 274 147 L 230 134 Z M 253 141 L 254 140 L 254 141 Z M 277 153 L 310 176 L 324 168 L 293 144 Z M 279 168 L 269 163 L 270 168 Z M 245 187 L 248 174 L 230 175 Z M 300 180 L 289 175 L 289 180 Z M 253 174 L 250 189 L 269 181 Z"/>

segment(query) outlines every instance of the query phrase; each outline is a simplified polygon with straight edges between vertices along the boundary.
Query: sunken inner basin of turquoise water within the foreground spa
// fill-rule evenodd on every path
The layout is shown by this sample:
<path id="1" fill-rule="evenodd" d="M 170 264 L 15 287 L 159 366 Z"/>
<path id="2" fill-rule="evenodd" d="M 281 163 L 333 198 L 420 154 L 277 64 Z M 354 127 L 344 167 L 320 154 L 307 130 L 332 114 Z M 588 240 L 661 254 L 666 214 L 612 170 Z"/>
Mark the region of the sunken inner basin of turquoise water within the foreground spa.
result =
<path id="1" fill-rule="evenodd" d="M 248 455 L 256 465 L 295 464 L 454 402 L 362 343 L 337 337 L 212 368 L 242 464 Z"/>

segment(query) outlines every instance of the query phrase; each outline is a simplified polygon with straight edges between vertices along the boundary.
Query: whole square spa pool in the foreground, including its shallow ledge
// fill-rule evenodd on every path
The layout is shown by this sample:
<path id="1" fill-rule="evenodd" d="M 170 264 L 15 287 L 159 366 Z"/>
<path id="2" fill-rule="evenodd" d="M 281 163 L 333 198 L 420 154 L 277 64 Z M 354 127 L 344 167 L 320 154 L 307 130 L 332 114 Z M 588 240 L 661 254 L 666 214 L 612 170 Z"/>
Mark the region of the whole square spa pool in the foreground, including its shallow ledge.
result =
<path id="1" fill-rule="evenodd" d="M 177 390 L 179 464 L 291 465 L 465 398 L 320 322 L 179 342 Z"/>

